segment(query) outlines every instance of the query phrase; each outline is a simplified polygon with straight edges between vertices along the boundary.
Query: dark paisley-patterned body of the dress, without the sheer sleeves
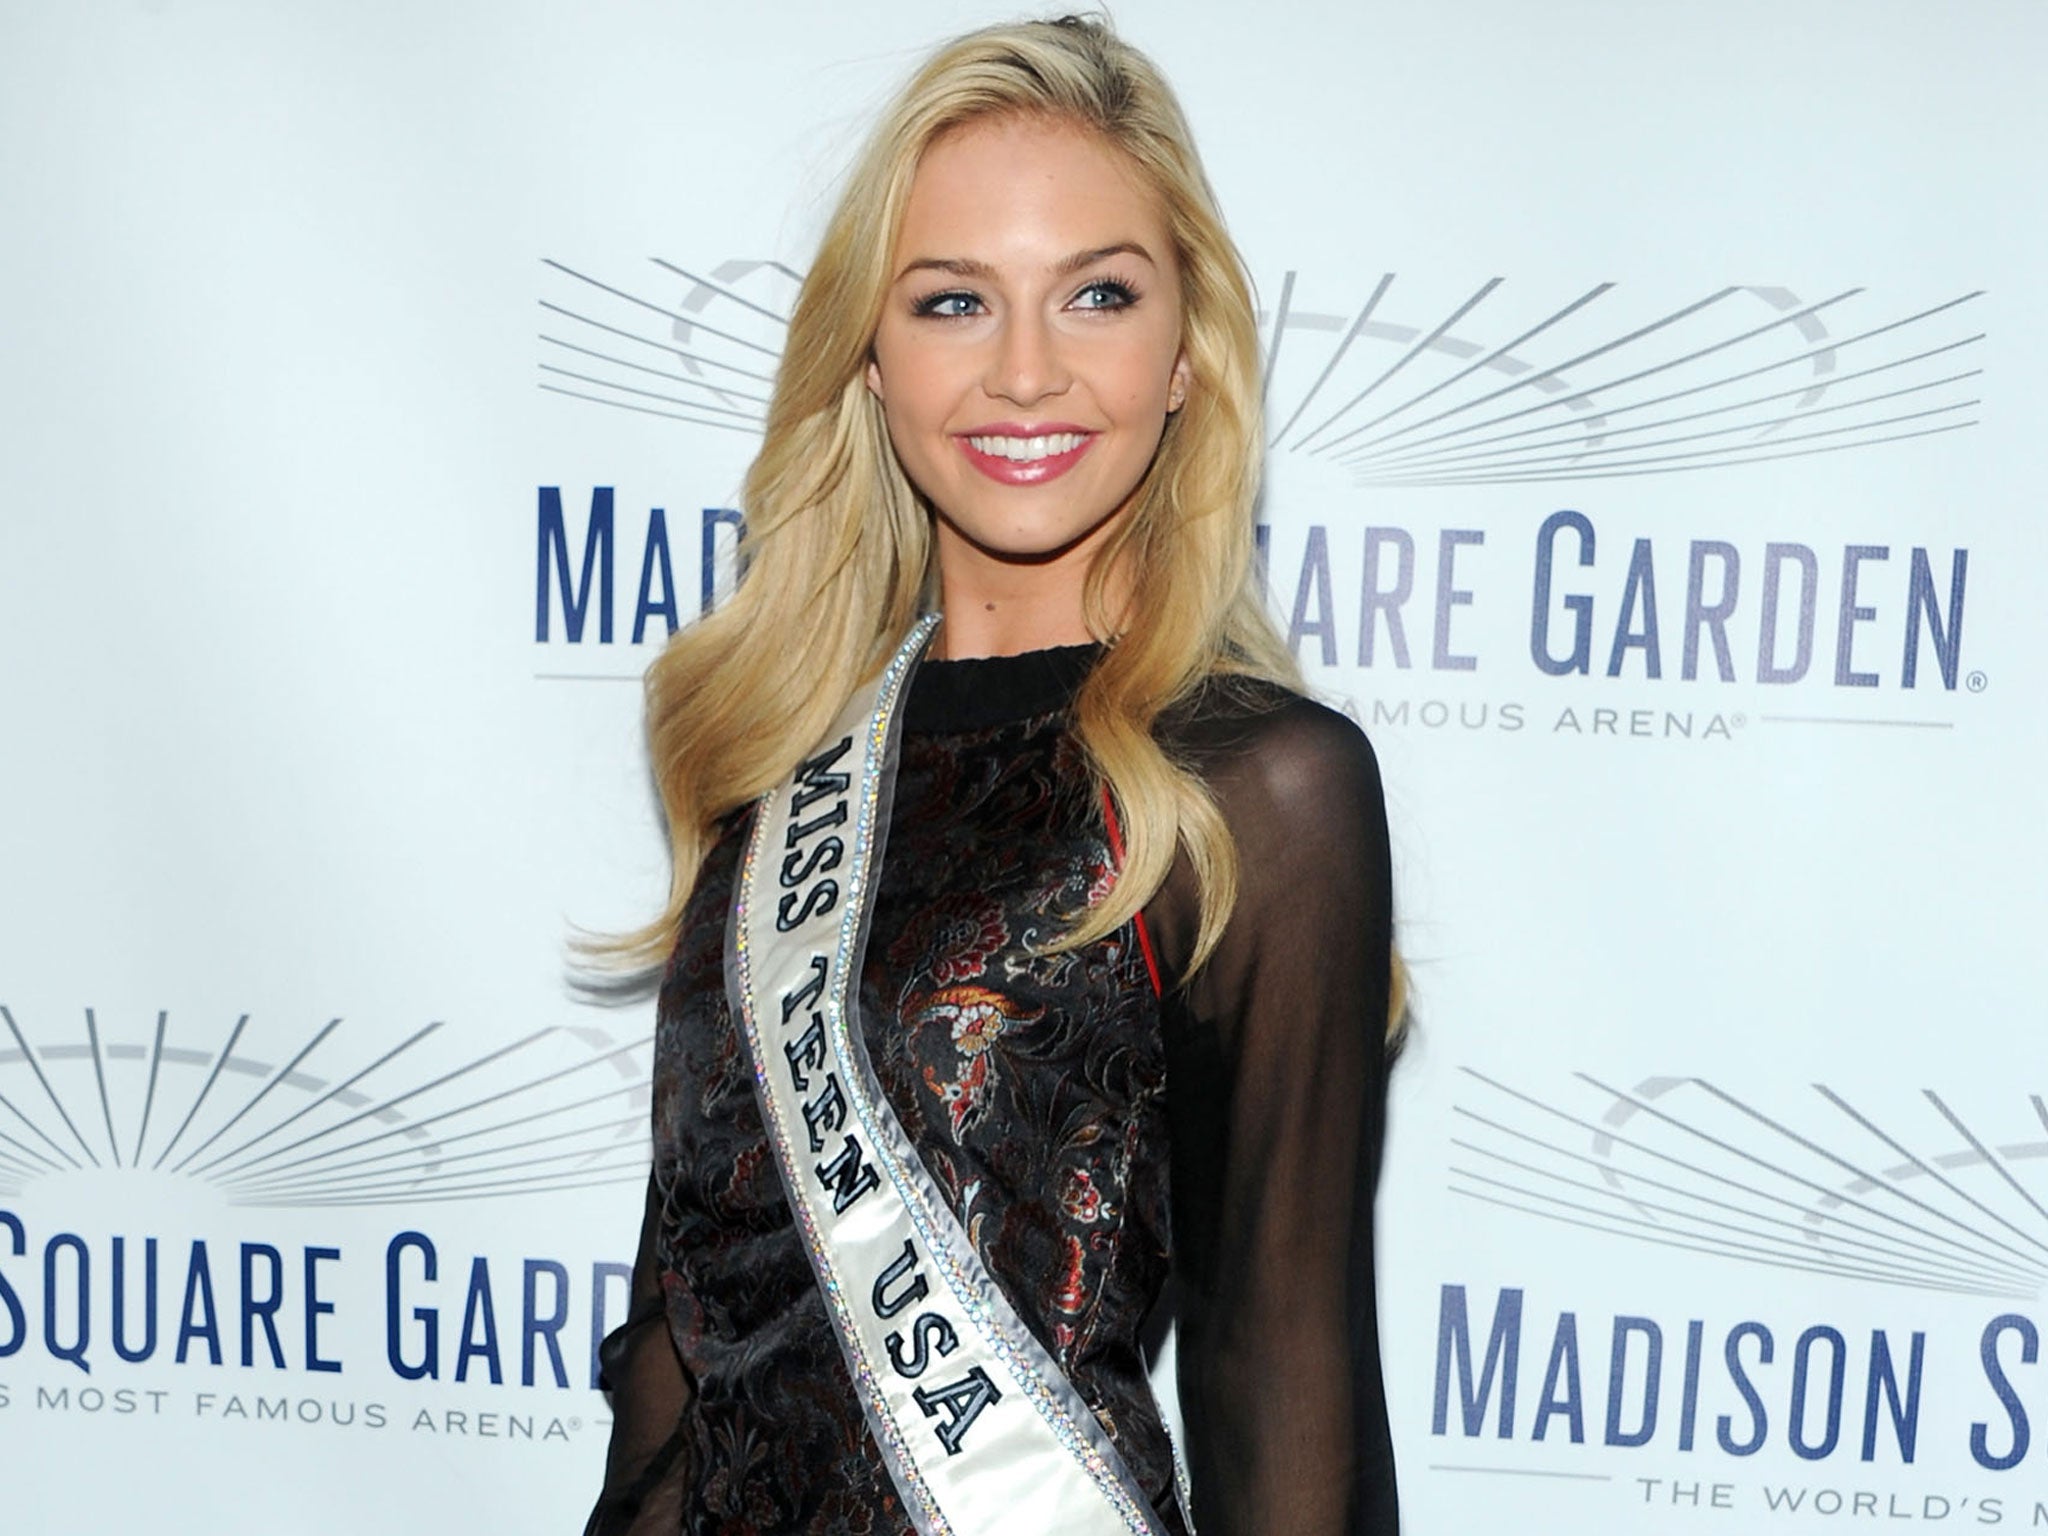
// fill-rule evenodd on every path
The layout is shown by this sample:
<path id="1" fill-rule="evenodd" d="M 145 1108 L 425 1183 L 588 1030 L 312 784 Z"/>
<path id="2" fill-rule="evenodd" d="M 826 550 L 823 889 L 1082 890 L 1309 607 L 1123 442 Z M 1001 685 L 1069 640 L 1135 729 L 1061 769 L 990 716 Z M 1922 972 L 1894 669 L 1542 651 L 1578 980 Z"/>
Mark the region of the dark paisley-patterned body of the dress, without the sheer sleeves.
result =
<path id="1" fill-rule="evenodd" d="M 907 1532 L 725 1001 L 725 909 L 748 823 L 735 817 L 707 862 L 655 1047 L 657 1253 L 696 1382 L 684 1530 Z M 1167 1270 L 1159 1008 L 1128 936 L 1040 952 L 1110 872 L 1102 813 L 1057 717 L 907 733 L 862 1026 L 891 1108 L 981 1262 L 1178 1532 L 1139 1350 Z"/>

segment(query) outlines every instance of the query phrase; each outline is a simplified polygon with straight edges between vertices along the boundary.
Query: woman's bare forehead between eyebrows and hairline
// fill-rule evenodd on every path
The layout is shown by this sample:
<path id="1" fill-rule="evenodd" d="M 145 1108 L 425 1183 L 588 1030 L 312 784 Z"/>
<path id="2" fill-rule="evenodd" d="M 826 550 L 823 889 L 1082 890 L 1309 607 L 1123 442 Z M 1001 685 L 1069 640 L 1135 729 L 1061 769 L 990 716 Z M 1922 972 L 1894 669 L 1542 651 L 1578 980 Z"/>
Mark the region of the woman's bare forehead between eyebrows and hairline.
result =
<path id="1" fill-rule="evenodd" d="M 1171 260 L 1165 209 L 1130 156 L 1085 127 L 999 117 L 924 152 L 897 256 L 1030 266 L 1124 242 Z"/>

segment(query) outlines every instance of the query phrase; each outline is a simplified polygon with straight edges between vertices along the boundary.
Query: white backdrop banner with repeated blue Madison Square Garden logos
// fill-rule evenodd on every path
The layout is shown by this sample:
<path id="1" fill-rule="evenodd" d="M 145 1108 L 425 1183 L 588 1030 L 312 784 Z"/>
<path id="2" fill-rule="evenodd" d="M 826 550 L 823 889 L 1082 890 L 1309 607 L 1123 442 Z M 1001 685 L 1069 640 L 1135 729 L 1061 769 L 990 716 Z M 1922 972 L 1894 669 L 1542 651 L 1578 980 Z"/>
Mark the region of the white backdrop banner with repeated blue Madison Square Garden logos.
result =
<path id="1" fill-rule="evenodd" d="M 578 1528 L 635 680 L 1004 12 L 0 4 L 6 1530 Z M 2048 8 L 1118 20 L 1391 786 L 1407 1528 L 2048 1530 Z"/>

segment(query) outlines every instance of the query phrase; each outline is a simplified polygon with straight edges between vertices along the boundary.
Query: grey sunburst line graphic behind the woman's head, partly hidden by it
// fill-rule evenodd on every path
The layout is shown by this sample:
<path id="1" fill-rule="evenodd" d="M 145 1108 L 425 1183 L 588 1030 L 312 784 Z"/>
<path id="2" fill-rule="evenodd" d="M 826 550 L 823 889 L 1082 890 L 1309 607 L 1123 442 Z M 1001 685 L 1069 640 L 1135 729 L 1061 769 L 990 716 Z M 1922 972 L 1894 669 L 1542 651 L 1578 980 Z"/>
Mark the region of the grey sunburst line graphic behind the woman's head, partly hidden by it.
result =
<path id="1" fill-rule="evenodd" d="M 760 434 L 801 272 L 653 258 L 612 276 L 547 258 L 541 387 Z M 1272 449 L 1360 485 L 1673 475 L 1976 426 L 1982 291 L 1896 305 L 1726 285 L 1645 295 L 1489 279 L 1444 291 L 1384 272 L 1288 270 L 1260 313 Z"/>

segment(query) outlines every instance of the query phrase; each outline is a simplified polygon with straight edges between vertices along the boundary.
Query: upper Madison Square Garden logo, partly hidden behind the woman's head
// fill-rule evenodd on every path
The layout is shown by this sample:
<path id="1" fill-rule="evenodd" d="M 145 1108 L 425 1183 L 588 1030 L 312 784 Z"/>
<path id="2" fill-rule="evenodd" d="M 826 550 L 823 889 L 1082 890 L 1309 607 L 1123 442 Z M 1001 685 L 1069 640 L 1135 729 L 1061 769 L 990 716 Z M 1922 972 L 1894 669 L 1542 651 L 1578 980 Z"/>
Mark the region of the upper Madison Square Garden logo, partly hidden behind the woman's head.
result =
<path id="1" fill-rule="evenodd" d="M 743 457 L 797 285 L 760 260 L 545 260 L 539 389 Z M 1896 508 L 1868 526 L 1831 504 L 1731 532 L 1724 514 L 1772 465 L 1913 463 L 1974 428 L 1982 293 L 1444 293 L 1386 272 L 1333 307 L 1348 287 L 1288 270 L 1260 315 L 1260 532 L 1276 618 L 1368 729 L 1952 729 L 1989 686 L 1948 518 L 1901 535 Z M 537 676 L 637 676 L 727 590 L 739 512 L 672 489 L 537 487 Z"/>

